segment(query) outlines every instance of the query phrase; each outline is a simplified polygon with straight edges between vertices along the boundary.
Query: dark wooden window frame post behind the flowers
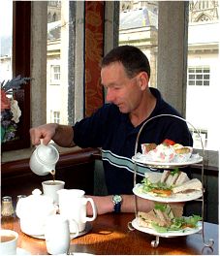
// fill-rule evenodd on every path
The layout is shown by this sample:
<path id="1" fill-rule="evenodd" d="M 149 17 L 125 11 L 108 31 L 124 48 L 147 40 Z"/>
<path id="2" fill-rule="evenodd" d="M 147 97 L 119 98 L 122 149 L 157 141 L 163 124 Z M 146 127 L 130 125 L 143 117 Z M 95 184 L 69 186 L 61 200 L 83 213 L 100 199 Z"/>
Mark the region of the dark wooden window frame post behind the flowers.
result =
<path id="1" fill-rule="evenodd" d="M 13 78 L 20 75 L 30 78 L 31 56 L 31 1 L 13 2 Z M 14 93 L 21 111 L 16 141 L 2 144 L 3 151 L 27 148 L 30 146 L 30 82 L 21 85 Z"/>

